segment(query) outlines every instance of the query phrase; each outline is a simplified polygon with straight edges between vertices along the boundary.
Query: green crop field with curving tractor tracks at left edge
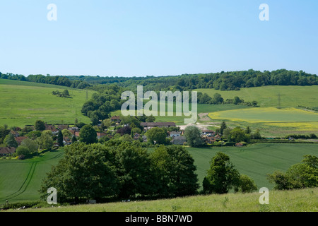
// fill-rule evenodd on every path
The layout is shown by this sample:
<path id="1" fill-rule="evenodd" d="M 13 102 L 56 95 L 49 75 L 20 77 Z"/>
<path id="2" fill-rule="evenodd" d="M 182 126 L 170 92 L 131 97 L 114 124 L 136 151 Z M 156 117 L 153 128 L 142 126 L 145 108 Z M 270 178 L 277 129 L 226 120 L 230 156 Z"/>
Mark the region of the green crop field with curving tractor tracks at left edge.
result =
<path id="1" fill-rule="evenodd" d="M 29 160 L 0 160 L 0 205 L 37 201 L 42 179 L 52 165 L 63 157 L 64 151 L 47 152 Z"/>

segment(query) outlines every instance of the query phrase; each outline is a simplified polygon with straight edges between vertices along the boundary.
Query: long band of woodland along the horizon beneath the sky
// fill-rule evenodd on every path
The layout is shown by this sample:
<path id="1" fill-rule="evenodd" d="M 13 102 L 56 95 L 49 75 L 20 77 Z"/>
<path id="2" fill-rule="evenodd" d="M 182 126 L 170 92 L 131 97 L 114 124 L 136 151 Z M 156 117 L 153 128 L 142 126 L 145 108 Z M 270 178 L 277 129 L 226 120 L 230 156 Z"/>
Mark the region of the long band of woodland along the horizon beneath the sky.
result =
<path id="1" fill-rule="evenodd" d="M 0 78 L 35 83 L 64 85 L 71 88 L 88 88 L 102 85 L 119 85 L 135 91 L 137 85 L 144 90 L 194 90 L 214 88 L 216 90 L 240 90 L 240 88 L 263 85 L 318 85 L 318 76 L 305 71 L 221 71 L 219 73 L 183 74 L 179 76 L 146 77 L 101 77 L 101 76 L 43 76 L 25 77 L 13 73 L 1 73 Z"/>

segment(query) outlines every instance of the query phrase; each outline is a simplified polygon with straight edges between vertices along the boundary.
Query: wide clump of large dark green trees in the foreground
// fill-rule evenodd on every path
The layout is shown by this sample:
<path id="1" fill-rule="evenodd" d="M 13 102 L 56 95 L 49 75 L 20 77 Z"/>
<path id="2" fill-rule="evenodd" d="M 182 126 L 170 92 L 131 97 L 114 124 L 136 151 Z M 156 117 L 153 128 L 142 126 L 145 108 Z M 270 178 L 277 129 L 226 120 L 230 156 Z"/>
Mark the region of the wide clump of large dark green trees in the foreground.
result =
<path id="1" fill-rule="evenodd" d="M 73 143 L 42 183 L 47 196 L 57 189 L 59 202 L 102 198 L 175 197 L 199 188 L 191 155 L 178 145 L 160 145 L 152 153 L 139 145 L 108 141 Z"/>

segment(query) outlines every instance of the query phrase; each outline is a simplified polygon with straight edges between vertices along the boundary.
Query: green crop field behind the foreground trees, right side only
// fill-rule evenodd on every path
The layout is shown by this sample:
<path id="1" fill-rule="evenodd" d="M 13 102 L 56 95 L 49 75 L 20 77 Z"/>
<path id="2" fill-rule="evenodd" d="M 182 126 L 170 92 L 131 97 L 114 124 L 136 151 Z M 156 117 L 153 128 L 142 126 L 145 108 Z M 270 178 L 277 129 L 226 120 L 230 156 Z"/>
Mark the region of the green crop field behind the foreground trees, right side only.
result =
<path id="1" fill-rule="evenodd" d="M 304 155 L 317 156 L 318 144 L 257 143 L 243 148 L 211 147 L 187 148 L 187 150 L 194 157 L 200 185 L 206 176 L 206 170 L 210 168 L 212 157 L 218 152 L 223 152 L 229 155 L 240 174 L 246 174 L 254 179 L 259 188 L 272 189 L 273 184 L 266 179 L 266 174 L 275 170 L 285 172 L 291 165 L 301 162 Z"/>

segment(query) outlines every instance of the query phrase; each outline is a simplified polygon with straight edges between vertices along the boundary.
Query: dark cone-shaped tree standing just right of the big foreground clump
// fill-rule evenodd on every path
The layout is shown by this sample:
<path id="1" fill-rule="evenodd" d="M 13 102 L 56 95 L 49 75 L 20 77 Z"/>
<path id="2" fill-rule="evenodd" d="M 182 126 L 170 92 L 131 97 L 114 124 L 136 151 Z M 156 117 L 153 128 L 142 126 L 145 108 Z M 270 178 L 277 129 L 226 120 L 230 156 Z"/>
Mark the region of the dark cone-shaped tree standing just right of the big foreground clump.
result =
<path id="1" fill-rule="evenodd" d="M 226 194 L 232 187 L 239 186 L 240 173 L 224 153 L 216 153 L 211 160 L 206 175 L 204 192 L 208 194 Z"/>

